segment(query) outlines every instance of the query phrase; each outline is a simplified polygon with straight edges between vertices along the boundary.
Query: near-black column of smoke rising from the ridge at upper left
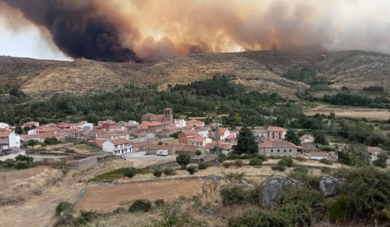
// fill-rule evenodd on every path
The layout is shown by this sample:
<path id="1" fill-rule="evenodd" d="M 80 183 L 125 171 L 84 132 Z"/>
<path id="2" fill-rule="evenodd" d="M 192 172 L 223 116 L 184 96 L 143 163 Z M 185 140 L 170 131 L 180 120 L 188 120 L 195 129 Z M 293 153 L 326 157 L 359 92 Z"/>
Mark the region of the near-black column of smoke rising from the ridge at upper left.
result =
<path id="1" fill-rule="evenodd" d="M 100 62 L 135 62 L 123 47 L 119 31 L 105 15 L 96 14 L 92 0 L 3 0 L 27 20 L 46 27 L 61 51 L 73 58 Z"/>

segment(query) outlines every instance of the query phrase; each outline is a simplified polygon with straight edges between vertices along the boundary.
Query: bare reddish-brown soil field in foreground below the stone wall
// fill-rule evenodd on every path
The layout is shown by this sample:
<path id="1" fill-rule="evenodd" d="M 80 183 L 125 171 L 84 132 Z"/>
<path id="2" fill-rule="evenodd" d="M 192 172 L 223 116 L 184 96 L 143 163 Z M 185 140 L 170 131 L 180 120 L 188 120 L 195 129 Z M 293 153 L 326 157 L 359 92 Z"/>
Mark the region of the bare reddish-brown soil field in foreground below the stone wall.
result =
<path id="1" fill-rule="evenodd" d="M 134 184 L 89 186 L 76 210 L 114 210 L 137 199 L 174 201 L 180 195 L 191 196 L 202 191 L 202 179 L 171 180 Z"/>

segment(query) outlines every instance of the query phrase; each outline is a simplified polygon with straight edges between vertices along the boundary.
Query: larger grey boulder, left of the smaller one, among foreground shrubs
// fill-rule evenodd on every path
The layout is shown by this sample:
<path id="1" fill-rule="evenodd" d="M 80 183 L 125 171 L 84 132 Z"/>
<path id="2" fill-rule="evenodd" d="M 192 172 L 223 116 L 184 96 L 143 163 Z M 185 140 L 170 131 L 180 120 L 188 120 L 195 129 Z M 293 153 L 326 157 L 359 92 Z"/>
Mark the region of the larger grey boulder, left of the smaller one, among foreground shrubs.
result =
<path id="1" fill-rule="evenodd" d="M 261 186 L 259 200 L 261 206 L 275 209 L 286 189 L 292 186 L 303 186 L 300 181 L 280 175 L 268 177 Z"/>

